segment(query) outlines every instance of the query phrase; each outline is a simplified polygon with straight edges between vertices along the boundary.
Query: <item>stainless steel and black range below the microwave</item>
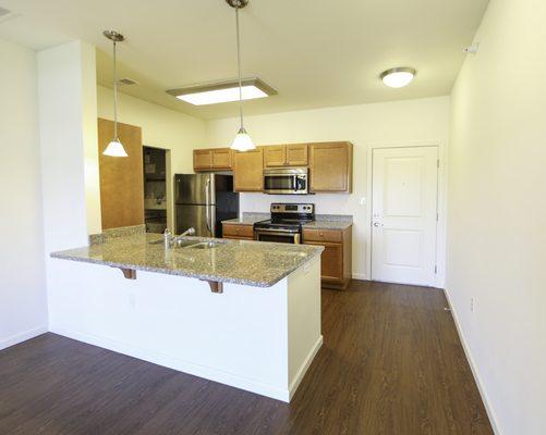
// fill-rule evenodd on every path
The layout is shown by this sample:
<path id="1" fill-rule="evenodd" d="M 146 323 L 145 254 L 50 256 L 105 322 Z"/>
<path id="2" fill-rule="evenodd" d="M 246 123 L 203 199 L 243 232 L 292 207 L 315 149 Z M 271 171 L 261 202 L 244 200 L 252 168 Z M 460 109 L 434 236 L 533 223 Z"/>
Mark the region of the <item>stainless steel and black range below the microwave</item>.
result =
<path id="1" fill-rule="evenodd" d="M 270 211 L 271 219 L 254 224 L 255 240 L 301 244 L 303 225 L 315 220 L 313 203 L 274 202 Z"/>

